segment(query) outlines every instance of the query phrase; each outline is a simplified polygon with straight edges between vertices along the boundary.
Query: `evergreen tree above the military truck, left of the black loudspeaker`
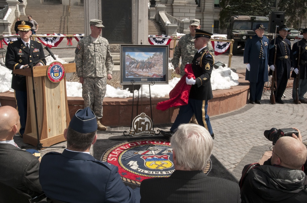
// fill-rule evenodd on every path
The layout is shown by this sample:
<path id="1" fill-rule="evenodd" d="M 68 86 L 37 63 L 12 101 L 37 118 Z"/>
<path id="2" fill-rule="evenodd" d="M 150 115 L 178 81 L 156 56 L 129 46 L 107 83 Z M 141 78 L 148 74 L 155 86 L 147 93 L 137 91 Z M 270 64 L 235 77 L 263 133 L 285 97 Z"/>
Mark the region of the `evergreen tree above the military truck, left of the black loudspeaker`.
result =
<path id="1" fill-rule="evenodd" d="M 286 1 L 286 0 L 285 0 Z M 275 0 L 222 0 L 220 1 L 220 28 L 225 29 L 231 16 L 268 16 Z"/>

